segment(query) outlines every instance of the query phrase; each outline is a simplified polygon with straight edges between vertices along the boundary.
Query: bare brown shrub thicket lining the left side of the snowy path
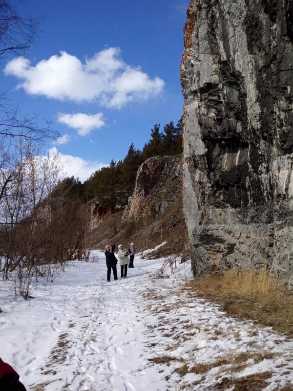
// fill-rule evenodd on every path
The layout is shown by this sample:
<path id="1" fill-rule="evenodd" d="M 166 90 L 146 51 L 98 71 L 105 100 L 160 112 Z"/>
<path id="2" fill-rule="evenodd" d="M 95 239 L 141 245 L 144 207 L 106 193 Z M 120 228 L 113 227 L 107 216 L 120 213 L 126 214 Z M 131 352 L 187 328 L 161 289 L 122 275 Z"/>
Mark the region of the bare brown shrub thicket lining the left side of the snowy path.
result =
<path id="1" fill-rule="evenodd" d="M 32 277 L 53 281 L 65 261 L 87 261 L 91 239 L 87 208 L 71 192 L 76 180 L 58 181 L 58 156 L 40 156 L 31 143 L 19 152 L 0 199 L 0 271 L 4 280 L 15 271 L 16 291 L 26 297 Z"/>

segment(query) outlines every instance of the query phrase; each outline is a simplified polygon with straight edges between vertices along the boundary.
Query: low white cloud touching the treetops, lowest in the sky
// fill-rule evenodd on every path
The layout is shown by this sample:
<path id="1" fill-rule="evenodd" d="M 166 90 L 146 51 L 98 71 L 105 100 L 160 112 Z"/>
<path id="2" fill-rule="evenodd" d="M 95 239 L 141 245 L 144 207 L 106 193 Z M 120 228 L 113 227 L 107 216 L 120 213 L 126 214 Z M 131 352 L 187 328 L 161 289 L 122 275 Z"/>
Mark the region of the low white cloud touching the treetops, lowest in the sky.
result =
<path id="1" fill-rule="evenodd" d="M 106 164 L 100 163 L 98 161 L 89 161 L 84 160 L 78 156 L 66 155 L 57 150 L 56 147 L 52 147 L 48 151 L 49 158 L 52 159 L 58 157 L 59 164 L 63 167 L 63 172 L 66 176 L 75 176 L 76 178 L 84 182 L 90 174 L 95 171 L 101 169 L 102 167 L 106 167 Z"/>

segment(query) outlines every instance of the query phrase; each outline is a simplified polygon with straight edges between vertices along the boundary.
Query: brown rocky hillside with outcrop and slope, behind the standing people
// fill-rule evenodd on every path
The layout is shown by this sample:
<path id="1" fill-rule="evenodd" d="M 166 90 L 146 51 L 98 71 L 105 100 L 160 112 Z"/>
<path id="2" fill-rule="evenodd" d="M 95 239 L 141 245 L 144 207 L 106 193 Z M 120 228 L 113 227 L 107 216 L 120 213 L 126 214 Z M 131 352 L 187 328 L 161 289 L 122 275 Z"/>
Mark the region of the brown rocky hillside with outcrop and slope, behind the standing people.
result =
<path id="1" fill-rule="evenodd" d="M 99 216 L 93 213 L 94 245 L 109 242 L 138 250 L 154 248 L 167 241 L 161 255 L 180 252 L 184 246 L 186 225 L 182 206 L 182 156 L 154 156 L 138 169 L 135 188 L 124 211 Z"/>

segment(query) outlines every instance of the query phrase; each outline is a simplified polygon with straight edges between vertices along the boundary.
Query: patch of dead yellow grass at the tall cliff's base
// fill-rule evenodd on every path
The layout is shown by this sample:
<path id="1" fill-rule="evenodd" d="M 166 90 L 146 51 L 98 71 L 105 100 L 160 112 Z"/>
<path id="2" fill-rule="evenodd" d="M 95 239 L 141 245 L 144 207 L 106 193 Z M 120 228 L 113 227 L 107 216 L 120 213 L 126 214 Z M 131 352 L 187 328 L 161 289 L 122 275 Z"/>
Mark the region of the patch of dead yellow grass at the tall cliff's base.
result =
<path id="1" fill-rule="evenodd" d="M 293 336 L 293 292 L 278 288 L 267 271 L 209 275 L 186 284 L 196 294 L 220 304 L 232 316 L 253 319 Z"/>

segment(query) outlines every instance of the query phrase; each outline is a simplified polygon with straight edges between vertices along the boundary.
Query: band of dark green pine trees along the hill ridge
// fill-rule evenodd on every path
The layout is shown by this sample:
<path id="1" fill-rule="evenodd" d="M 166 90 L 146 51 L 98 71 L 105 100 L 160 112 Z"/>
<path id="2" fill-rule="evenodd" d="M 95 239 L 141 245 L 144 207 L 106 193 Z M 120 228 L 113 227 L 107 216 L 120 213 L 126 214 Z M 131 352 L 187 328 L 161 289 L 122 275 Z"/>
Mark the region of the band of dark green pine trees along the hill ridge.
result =
<path id="1" fill-rule="evenodd" d="M 68 186 L 72 187 L 70 191 L 84 202 L 97 197 L 101 205 L 112 212 L 123 208 L 128 196 L 132 195 L 137 169 L 143 161 L 153 156 L 182 152 L 182 130 L 182 118 L 176 126 L 173 121 L 166 124 L 163 132 L 160 132 L 160 124 L 156 124 L 151 129 L 150 139 L 142 152 L 131 143 L 123 160 L 118 163 L 111 160 L 108 167 L 91 174 L 84 185 L 74 177 L 66 178 Z"/>

